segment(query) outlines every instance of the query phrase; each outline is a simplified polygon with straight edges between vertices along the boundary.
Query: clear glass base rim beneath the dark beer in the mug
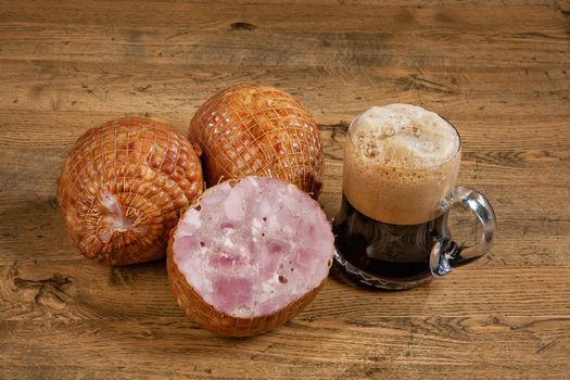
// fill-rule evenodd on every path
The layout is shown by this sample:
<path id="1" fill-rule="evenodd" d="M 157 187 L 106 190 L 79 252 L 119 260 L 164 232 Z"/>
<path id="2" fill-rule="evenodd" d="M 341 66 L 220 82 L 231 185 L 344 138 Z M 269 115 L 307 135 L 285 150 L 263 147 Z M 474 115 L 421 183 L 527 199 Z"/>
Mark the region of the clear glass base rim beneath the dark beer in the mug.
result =
<path id="1" fill-rule="evenodd" d="M 334 262 L 340 266 L 344 274 L 353 281 L 360 282 L 368 287 L 384 289 L 384 290 L 406 290 L 419 287 L 426 282 L 429 282 L 433 277 L 425 277 L 414 280 L 398 280 L 382 278 L 370 275 L 356 266 L 352 265 L 340 252 L 339 249 L 334 248 Z"/>

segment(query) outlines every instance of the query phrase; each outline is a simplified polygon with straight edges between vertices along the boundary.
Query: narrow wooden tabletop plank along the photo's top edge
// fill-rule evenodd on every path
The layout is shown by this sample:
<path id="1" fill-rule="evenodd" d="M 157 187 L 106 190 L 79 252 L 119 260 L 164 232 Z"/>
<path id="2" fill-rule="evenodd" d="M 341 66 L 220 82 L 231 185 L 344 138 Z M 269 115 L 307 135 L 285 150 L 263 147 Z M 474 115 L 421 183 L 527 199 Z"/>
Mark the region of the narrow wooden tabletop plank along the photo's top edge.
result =
<path id="1" fill-rule="evenodd" d="M 481 31 L 482 26 L 496 30 L 528 30 L 534 26 L 545 30 L 553 24 L 560 25 L 566 15 L 566 7 L 550 3 L 523 5 L 519 3 L 502 5 L 497 12 L 494 4 L 461 4 L 408 7 L 373 4 L 330 4 L 295 3 L 239 4 L 239 3 L 192 3 L 145 1 L 134 5 L 132 1 L 96 1 L 85 3 L 73 1 L 3 1 L 0 23 L 49 23 L 63 25 L 109 25 L 129 27 L 200 25 L 202 28 L 228 28 L 230 22 L 242 22 L 256 27 L 270 26 L 288 30 L 307 28 L 311 20 L 312 30 L 355 30 L 369 31 L 379 28 L 406 30 L 407 28 L 431 28 L 443 24 L 464 31 Z M 409 3 L 408 3 L 409 4 Z M 159 11 L 157 11 L 159 10 Z M 517 14 L 517 17 L 512 17 Z M 346 22 L 350 20 L 350 22 Z M 249 27 L 233 27 L 235 30 L 249 30 Z"/>

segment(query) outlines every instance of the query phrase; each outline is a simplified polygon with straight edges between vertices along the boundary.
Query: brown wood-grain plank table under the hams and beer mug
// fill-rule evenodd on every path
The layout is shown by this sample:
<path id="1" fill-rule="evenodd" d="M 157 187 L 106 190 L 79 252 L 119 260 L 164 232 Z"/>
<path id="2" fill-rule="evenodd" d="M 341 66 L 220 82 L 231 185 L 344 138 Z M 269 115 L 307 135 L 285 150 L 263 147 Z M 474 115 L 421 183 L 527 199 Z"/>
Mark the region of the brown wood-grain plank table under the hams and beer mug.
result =
<path id="1" fill-rule="evenodd" d="M 369 2 L 0 1 L 0 379 L 570 378 L 570 3 Z M 194 327 L 164 261 L 77 254 L 54 195 L 77 137 L 122 115 L 185 131 L 242 81 L 313 113 L 329 217 L 353 116 L 444 115 L 459 182 L 495 207 L 492 252 L 403 292 L 332 271 L 292 322 L 244 340 Z"/>

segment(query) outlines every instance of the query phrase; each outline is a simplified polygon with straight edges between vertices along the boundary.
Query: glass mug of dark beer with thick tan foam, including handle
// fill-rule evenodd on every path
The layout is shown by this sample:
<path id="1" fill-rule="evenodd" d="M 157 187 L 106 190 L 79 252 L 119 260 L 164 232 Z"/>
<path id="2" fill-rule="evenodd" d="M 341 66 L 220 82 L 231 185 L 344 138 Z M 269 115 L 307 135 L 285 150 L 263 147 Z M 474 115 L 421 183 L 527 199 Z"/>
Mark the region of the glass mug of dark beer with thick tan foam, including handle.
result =
<path id="1" fill-rule="evenodd" d="M 332 223 L 334 258 L 350 277 L 408 289 L 489 251 L 495 215 L 480 192 L 455 187 L 460 160 L 457 130 L 422 107 L 375 106 L 353 119 L 342 204 Z M 473 245 L 452 240 L 447 219 L 458 205 L 482 225 Z"/>

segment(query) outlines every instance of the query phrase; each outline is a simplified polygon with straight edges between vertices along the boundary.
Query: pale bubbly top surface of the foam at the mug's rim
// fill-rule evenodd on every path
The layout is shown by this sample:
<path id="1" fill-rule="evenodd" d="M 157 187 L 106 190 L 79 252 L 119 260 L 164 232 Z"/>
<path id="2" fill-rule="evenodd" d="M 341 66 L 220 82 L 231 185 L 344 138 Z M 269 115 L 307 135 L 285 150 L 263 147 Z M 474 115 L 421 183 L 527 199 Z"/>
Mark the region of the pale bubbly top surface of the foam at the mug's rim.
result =
<path id="1" fill-rule="evenodd" d="M 353 121 L 350 137 L 367 160 L 397 168 L 436 167 L 459 150 L 449 123 L 410 104 L 372 106 Z"/>

